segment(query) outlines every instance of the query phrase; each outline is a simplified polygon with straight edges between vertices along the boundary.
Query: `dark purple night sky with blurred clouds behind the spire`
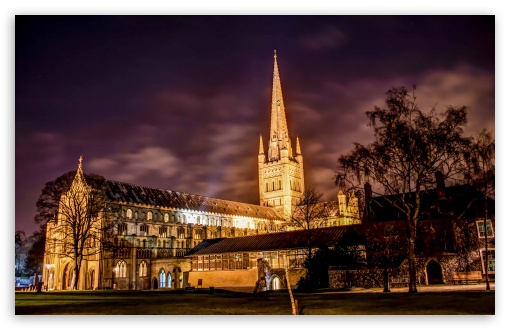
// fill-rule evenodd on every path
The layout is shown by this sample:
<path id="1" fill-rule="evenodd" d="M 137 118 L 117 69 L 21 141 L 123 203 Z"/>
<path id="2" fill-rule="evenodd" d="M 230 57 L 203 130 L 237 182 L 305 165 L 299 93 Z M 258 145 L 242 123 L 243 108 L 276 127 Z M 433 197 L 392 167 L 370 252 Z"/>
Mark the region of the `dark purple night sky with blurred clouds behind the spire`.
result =
<path id="1" fill-rule="evenodd" d="M 417 86 L 422 110 L 495 128 L 494 16 L 16 16 L 15 218 L 75 170 L 258 204 L 273 50 L 305 184 L 333 199 L 365 112 Z"/>

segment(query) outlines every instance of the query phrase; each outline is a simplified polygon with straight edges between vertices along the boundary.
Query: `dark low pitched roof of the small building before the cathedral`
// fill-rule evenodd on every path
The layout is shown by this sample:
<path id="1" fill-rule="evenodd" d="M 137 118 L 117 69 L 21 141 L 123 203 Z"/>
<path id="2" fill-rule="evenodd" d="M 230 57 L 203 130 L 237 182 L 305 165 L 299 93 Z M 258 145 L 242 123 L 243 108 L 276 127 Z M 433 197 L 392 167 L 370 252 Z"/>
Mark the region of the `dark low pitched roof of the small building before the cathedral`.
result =
<path id="1" fill-rule="evenodd" d="M 361 244 L 361 225 L 337 226 L 310 230 L 312 247 L 333 246 L 340 242 Z M 295 230 L 280 233 L 204 240 L 186 256 L 234 252 L 275 251 L 308 247 L 308 232 Z"/>

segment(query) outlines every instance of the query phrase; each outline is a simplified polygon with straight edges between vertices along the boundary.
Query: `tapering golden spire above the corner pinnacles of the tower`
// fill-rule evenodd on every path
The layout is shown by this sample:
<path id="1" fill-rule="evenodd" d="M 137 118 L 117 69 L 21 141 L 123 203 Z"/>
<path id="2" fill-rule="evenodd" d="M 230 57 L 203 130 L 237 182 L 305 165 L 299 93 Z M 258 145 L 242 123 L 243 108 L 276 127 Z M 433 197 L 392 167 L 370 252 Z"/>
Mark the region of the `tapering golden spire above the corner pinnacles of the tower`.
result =
<path id="1" fill-rule="evenodd" d="M 285 106 L 283 104 L 282 86 L 280 73 L 278 72 L 278 62 L 276 60 L 276 50 L 274 51 L 273 68 L 273 90 L 271 94 L 271 131 L 269 132 L 269 150 L 268 159 L 280 159 L 280 150 L 287 149 L 289 157 L 292 158 L 292 148 L 289 140 L 289 130 L 287 129 L 287 118 L 285 117 Z"/>

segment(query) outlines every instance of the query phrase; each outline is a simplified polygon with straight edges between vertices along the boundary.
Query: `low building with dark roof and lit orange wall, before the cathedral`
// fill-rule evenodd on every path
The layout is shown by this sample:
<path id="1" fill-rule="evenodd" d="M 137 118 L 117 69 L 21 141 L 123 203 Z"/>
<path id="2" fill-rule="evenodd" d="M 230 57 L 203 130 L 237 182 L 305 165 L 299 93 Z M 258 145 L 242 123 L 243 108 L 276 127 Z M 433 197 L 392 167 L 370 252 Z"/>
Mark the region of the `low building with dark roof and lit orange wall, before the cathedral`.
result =
<path id="1" fill-rule="evenodd" d="M 186 254 L 191 261 L 188 286 L 246 292 L 284 289 L 288 282 L 295 287 L 305 274 L 303 262 L 308 249 L 313 252 L 342 241 L 364 249 L 362 227 L 336 226 L 204 240 Z"/>

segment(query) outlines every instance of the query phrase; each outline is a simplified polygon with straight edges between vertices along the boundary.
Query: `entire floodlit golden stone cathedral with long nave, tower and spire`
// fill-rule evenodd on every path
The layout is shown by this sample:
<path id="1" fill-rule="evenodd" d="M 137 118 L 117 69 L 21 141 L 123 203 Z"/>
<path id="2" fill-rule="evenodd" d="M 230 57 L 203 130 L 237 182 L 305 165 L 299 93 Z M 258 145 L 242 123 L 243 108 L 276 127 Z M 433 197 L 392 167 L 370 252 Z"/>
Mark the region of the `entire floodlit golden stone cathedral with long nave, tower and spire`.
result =
<path id="1" fill-rule="evenodd" d="M 295 284 L 303 274 L 306 238 L 291 219 L 305 192 L 304 157 L 299 138 L 293 145 L 288 131 L 276 52 L 270 115 L 267 144 L 260 136 L 258 151 L 260 205 L 106 179 L 102 194 L 109 212 L 90 219 L 77 260 L 69 253 L 77 227 L 69 214 L 86 218 L 80 212 L 92 203 L 94 191 L 80 157 L 58 214 L 47 224 L 42 277 L 46 289 L 216 286 L 253 292 L 284 286 L 284 268 L 291 270 L 287 281 Z M 349 225 L 361 223 L 357 198 L 341 190 L 337 197 L 320 202 L 327 214 L 321 228 L 313 229 L 316 244 L 340 239 L 354 230 Z M 111 229 L 108 234 L 105 228 Z M 105 235 L 111 236 L 107 247 Z M 268 267 L 280 271 L 266 274 L 261 284 L 266 275 L 260 273 Z"/>

